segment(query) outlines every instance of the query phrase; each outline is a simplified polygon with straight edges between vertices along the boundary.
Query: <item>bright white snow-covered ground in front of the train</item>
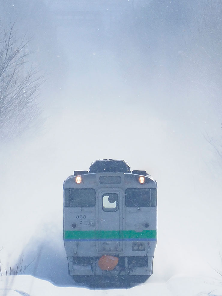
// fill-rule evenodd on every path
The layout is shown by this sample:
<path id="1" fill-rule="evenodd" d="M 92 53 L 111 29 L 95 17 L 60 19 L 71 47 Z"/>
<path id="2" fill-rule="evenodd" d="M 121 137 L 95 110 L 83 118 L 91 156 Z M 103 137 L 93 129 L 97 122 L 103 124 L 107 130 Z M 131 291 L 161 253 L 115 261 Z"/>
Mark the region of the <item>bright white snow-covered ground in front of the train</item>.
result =
<path id="1" fill-rule="evenodd" d="M 131 289 L 90 290 L 81 287 L 57 287 L 29 275 L 0 278 L 0 296 L 221 296 L 222 284 L 211 278 L 172 277 L 164 283 L 149 283 Z"/>

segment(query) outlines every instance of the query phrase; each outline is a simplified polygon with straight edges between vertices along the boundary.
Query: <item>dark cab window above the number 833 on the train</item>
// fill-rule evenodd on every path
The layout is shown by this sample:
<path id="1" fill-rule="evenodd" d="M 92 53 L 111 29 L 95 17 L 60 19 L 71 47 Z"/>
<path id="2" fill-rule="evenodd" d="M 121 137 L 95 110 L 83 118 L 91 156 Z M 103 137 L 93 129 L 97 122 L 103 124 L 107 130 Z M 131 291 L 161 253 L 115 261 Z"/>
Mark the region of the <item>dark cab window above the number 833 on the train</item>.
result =
<path id="1" fill-rule="evenodd" d="M 95 204 L 94 189 L 64 189 L 64 207 L 92 208 Z"/>

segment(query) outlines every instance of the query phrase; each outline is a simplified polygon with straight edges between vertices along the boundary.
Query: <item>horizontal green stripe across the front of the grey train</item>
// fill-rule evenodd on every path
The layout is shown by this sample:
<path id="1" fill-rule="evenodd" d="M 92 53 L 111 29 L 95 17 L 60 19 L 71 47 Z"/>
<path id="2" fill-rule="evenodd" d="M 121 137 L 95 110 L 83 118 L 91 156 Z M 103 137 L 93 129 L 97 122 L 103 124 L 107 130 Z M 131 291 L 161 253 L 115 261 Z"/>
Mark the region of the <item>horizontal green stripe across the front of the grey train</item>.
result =
<path id="1" fill-rule="evenodd" d="M 90 231 L 79 231 L 79 230 L 67 230 L 64 231 L 64 239 L 118 239 L 118 238 L 156 238 L 156 230 L 143 230 L 136 232 L 134 230 L 90 230 Z"/>

